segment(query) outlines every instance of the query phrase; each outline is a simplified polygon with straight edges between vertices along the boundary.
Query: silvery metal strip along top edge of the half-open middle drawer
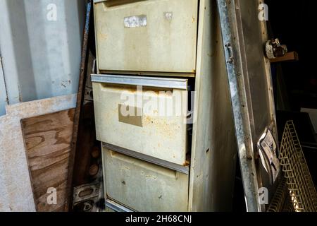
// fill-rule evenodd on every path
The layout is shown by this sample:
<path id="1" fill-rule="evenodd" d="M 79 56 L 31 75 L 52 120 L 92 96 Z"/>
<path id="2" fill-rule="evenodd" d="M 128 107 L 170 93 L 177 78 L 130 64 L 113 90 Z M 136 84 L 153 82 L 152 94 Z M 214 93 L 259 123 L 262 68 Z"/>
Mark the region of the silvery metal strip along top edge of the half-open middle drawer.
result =
<path id="1" fill-rule="evenodd" d="M 187 79 L 181 78 L 157 78 L 142 76 L 117 76 L 92 74 L 94 83 L 111 83 L 120 85 L 143 85 L 158 88 L 173 88 L 187 90 Z"/>

